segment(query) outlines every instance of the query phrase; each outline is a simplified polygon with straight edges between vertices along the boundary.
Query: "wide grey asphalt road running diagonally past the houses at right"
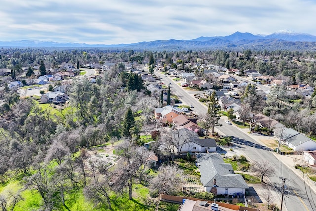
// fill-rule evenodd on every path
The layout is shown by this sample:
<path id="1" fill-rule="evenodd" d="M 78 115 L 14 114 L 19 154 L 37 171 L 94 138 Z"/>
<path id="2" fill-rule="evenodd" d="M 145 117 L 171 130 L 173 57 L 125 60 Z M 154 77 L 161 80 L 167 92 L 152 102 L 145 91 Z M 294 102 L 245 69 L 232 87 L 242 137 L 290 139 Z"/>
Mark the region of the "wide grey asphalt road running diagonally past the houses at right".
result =
<path id="1" fill-rule="evenodd" d="M 171 92 L 179 97 L 181 101 L 188 105 L 194 106 L 194 111 L 201 115 L 207 112 L 207 107 L 195 99 L 192 95 L 188 94 L 182 87 L 174 82 L 169 77 L 162 75 L 158 72 L 156 75 L 161 76 L 161 80 L 165 84 L 170 85 Z M 285 207 L 288 211 L 316 211 L 316 194 L 309 188 L 306 182 L 298 177 L 291 169 L 287 168 L 281 161 L 279 161 L 269 148 L 258 143 L 255 139 L 245 134 L 243 131 L 236 129 L 232 125 L 228 125 L 223 119 L 220 120 L 222 127 L 216 127 L 223 134 L 228 136 L 234 136 L 237 139 L 234 143 L 240 147 L 245 155 L 252 161 L 267 160 L 272 166 L 275 167 L 276 174 L 269 177 L 270 184 L 280 190 L 282 180 L 279 177 L 287 178 L 289 181 L 285 182 L 289 192 L 284 195 L 283 211 Z M 279 192 L 281 197 L 281 192 Z"/>

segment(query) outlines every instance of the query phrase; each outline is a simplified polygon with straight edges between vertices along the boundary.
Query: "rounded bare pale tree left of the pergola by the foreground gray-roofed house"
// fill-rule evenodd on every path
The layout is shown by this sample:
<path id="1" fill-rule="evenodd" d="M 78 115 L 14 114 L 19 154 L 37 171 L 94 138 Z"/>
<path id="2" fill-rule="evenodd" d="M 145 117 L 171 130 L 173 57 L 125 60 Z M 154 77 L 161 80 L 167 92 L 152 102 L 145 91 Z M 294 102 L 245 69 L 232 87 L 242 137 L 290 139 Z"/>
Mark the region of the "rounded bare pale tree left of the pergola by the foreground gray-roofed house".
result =
<path id="1" fill-rule="evenodd" d="M 150 182 L 151 188 L 158 190 L 158 193 L 173 195 L 181 191 L 182 177 L 183 171 L 176 166 L 161 166 L 158 169 L 158 176 Z"/>

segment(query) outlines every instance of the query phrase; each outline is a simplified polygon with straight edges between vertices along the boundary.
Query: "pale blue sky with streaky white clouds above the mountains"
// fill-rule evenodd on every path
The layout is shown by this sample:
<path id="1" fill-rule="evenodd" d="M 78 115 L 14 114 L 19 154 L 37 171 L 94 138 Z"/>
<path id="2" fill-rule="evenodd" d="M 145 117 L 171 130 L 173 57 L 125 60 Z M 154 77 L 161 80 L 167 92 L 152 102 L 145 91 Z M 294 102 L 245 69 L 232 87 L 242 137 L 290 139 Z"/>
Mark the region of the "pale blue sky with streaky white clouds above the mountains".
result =
<path id="1" fill-rule="evenodd" d="M 316 35 L 316 0 L 1 0 L 0 41 L 129 44 L 236 31 Z"/>

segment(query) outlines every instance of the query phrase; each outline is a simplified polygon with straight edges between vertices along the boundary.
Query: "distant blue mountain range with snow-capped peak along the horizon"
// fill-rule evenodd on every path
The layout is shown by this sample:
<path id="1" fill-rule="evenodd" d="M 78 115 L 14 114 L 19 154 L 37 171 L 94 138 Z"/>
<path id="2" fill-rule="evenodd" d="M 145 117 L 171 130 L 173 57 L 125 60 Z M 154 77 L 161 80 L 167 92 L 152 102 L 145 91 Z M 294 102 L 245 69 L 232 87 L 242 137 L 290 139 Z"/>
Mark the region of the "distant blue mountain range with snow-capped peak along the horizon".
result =
<path id="1" fill-rule="evenodd" d="M 112 49 L 290 49 L 316 50 L 316 36 L 281 30 L 270 35 L 253 35 L 235 32 L 228 36 L 199 37 L 192 40 L 156 40 L 132 44 L 102 45 L 84 43 L 60 43 L 48 41 L 0 41 L 2 47 L 67 47 L 67 48 L 112 48 Z"/>

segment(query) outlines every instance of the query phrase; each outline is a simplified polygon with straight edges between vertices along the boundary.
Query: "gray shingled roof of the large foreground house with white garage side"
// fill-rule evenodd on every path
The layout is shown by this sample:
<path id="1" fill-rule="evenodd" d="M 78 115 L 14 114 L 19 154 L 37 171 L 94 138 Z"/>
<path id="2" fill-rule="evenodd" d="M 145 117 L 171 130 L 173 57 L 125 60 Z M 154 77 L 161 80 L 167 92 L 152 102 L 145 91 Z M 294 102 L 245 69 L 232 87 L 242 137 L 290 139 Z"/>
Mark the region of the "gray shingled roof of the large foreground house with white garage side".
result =
<path id="1" fill-rule="evenodd" d="M 240 174 L 234 174 L 231 164 L 226 164 L 217 153 L 197 153 L 201 173 L 201 182 L 205 187 L 212 187 L 216 179 L 217 187 L 249 188 Z"/>

